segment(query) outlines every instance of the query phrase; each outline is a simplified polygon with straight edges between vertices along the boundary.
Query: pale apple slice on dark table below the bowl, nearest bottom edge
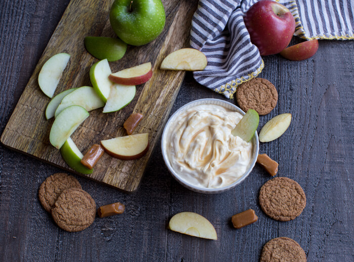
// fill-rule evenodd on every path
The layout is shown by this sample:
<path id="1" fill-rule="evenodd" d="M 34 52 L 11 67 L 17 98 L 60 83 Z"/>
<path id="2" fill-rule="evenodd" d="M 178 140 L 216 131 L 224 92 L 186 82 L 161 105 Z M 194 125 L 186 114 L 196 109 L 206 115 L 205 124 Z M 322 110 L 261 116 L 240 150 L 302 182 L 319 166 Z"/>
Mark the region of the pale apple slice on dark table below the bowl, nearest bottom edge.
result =
<path id="1" fill-rule="evenodd" d="M 169 221 L 168 227 L 172 231 L 190 236 L 217 239 L 213 225 L 203 216 L 193 212 L 182 212 L 174 215 Z"/>

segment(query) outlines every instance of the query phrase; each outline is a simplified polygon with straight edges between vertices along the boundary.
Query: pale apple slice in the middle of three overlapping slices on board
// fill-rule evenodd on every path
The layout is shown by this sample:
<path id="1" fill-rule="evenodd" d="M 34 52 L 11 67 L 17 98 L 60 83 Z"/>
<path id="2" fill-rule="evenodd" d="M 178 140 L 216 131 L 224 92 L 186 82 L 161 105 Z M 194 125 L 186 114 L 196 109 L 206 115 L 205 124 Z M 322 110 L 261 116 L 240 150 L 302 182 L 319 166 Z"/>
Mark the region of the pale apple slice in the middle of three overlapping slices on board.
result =
<path id="1" fill-rule="evenodd" d="M 57 117 L 64 109 L 74 106 L 75 104 L 76 106 L 83 107 L 87 112 L 105 106 L 105 102 L 98 96 L 94 88 L 91 86 L 82 86 L 67 94 L 62 99 L 55 111 L 55 117 Z"/>

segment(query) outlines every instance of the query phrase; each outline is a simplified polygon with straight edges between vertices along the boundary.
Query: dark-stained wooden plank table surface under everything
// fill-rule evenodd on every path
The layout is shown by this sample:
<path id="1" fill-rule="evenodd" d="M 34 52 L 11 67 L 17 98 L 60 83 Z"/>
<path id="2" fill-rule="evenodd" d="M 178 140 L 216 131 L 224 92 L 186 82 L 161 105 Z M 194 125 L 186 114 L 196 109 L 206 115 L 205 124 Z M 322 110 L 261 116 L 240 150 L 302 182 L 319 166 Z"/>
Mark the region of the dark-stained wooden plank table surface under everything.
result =
<path id="1" fill-rule="evenodd" d="M 0 1 L 1 132 L 68 3 Z M 1 145 L 0 260 L 258 261 L 267 241 L 286 236 L 301 245 L 307 261 L 354 261 L 354 41 L 323 40 L 306 61 L 269 56 L 264 63 L 259 76 L 275 84 L 279 101 L 271 114 L 260 117 L 259 127 L 281 113 L 291 113 L 293 120 L 279 139 L 261 143 L 260 152 L 279 163 L 279 176 L 294 179 L 304 189 L 307 203 L 298 218 L 278 222 L 264 215 L 258 192 L 270 176 L 258 166 L 235 189 L 199 194 L 171 177 L 157 146 L 134 194 L 77 177 L 98 206 L 120 201 L 126 211 L 68 233 L 55 225 L 37 197 L 40 183 L 61 170 Z M 188 73 L 171 114 L 206 97 L 225 99 Z M 258 221 L 234 229 L 231 216 L 248 208 Z M 168 220 L 183 211 L 206 217 L 218 240 L 167 230 Z"/>

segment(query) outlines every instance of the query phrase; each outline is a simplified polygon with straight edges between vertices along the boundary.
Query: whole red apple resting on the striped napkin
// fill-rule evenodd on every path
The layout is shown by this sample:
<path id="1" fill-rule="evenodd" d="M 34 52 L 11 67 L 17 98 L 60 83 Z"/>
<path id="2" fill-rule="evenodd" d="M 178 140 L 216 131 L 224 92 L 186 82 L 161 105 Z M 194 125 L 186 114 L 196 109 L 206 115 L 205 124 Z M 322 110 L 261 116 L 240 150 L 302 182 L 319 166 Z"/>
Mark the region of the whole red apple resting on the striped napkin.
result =
<path id="1" fill-rule="evenodd" d="M 246 28 L 261 56 L 278 54 L 295 32 L 295 19 L 289 9 L 271 0 L 261 0 L 247 11 Z"/>

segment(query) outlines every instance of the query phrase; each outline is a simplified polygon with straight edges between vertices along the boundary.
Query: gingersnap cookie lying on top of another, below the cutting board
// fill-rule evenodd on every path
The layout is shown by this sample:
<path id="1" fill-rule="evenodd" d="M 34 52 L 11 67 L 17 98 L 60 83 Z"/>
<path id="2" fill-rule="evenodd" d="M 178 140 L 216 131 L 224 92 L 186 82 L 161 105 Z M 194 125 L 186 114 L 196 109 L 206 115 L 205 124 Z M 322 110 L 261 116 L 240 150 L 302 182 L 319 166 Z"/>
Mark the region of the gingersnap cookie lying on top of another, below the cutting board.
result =
<path id="1" fill-rule="evenodd" d="M 96 203 L 86 191 L 70 188 L 59 195 L 51 212 L 55 223 L 61 229 L 77 232 L 94 223 Z"/>

